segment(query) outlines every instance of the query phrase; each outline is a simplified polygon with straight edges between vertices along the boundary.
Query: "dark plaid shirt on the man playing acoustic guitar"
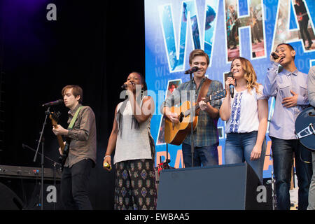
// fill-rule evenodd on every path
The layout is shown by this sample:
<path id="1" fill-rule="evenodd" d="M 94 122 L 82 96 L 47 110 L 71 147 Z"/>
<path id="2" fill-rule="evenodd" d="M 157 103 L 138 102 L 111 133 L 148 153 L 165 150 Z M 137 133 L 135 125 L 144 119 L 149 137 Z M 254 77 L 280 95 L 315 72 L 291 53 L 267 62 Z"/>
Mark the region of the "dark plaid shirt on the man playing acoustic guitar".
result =
<path id="1" fill-rule="evenodd" d="M 201 90 L 202 84 L 204 83 L 204 80 L 206 78 L 202 79 L 202 82 L 200 83 L 200 86 L 198 87 L 198 90 L 196 90 L 196 83 L 193 80 L 193 93 L 195 93 L 195 97 L 193 99 L 194 102 L 197 101 L 198 94 Z M 184 90 L 187 91 L 187 94 L 183 92 Z M 212 80 L 209 90 L 207 92 L 207 97 L 209 97 L 211 94 L 214 94 L 214 92 L 223 90 L 223 85 L 221 82 L 217 80 Z M 197 91 L 197 92 L 196 92 Z M 182 83 L 179 85 L 179 87 L 174 90 L 172 95 L 170 97 L 167 97 L 165 102 L 162 103 L 161 106 L 161 112 L 163 111 L 163 108 L 165 106 L 172 107 L 177 104 L 182 104 L 183 102 L 186 102 L 190 99 L 190 81 L 186 83 Z M 213 106 L 216 109 L 220 109 L 221 107 L 221 99 L 217 100 L 211 100 L 210 102 L 211 106 Z M 200 110 L 199 116 L 198 116 L 198 123 L 197 128 L 193 132 L 194 137 L 194 146 L 202 147 L 202 146 L 211 146 L 214 144 L 218 144 L 218 118 L 211 118 L 209 114 L 206 111 Z M 183 141 L 185 144 L 191 145 L 191 134 L 189 133 L 186 137 L 186 139 Z"/>

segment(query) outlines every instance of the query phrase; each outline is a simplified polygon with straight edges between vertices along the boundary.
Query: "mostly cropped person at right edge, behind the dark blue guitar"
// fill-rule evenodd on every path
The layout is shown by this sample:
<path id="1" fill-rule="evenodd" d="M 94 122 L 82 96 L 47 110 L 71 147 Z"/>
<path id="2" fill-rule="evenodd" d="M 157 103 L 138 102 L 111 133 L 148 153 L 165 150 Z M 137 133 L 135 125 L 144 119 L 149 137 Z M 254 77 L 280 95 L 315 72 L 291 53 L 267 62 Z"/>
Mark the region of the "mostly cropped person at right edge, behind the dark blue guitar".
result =
<path id="1" fill-rule="evenodd" d="M 309 69 L 309 76 L 307 79 L 307 91 L 309 92 L 309 104 L 315 107 L 315 66 Z M 311 161 L 313 161 L 313 176 L 311 177 L 311 184 L 309 186 L 309 206 L 307 210 L 315 210 L 315 152 L 311 153 Z"/>

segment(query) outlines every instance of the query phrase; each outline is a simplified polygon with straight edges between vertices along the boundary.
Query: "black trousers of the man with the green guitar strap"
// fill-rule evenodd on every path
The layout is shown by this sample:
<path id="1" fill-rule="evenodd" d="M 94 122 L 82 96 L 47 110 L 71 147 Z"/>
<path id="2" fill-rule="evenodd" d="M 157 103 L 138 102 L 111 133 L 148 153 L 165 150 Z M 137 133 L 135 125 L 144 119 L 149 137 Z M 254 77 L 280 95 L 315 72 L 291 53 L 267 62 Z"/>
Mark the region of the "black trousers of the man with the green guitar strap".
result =
<path id="1" fill-rule="evenodd" d="M 64 209 L 92 210 L 88 197 L 88 183 L 93 161 L 81 160 L 71 168 L 64 167 L 61 179 L 61 201 Z"/>

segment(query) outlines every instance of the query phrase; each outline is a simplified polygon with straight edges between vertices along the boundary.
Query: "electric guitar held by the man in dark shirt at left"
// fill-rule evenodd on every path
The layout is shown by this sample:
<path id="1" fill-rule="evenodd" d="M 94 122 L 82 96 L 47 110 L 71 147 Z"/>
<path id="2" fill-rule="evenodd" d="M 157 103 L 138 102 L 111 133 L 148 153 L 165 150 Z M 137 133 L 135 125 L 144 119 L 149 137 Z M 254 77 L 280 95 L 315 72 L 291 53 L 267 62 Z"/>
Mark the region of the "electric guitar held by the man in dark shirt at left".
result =
<path id="1" fill-rule="evenodd" d="M 52 126 L 54 126 L 55 128 L 58 128 L 58 120 L 59 120 L 59 116 L 60 116 L 60 112 L 58 111 L 57 113 L 50 113 L 50 120 L 52 123 Z M 64 144 L 64 140 L 62 139 L 61 135 L 57 135 L 57 140 L 58 140 L 58 144 L 60 146 L 60 149 L 62 151 L 62 155 L 60 155 L 59 157 L 59 162 L 62 164 L 62 168 L 64 167 L 64 163 L 66 162 L 66 158 L 68 157 L 69 154 L 69 145 L 70 145 L 70 139 L 66 139 L 66 143 Z"/>

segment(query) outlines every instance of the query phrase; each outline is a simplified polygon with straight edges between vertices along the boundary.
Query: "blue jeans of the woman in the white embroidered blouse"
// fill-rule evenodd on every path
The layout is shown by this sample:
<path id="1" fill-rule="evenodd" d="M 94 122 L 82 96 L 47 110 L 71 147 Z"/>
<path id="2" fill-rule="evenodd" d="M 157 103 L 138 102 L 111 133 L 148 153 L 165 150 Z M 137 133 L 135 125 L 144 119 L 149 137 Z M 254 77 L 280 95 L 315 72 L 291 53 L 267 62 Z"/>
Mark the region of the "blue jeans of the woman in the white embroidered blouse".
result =
<path id="1" fill-rule="evenodd" d="M 225 164 L 246 162 L 250 165 L 262 183 L 262 173 L 266 154 L 266 139 L 262 143 L 258 160 L 251 160 L 251 151 L 256 144 L 258 132 L 228 133 L 225 140 Z"/>

